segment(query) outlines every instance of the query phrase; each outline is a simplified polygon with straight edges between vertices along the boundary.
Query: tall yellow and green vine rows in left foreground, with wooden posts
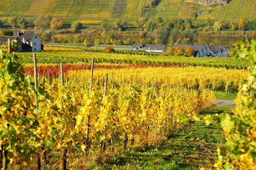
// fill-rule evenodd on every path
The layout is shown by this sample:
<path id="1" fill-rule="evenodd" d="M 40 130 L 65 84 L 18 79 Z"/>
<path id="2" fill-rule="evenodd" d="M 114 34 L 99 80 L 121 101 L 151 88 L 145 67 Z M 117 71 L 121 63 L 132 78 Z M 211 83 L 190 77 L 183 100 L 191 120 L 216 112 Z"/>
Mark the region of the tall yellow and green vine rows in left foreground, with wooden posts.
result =
<path id="1" fill-rule="evenodd" d="M 210 90 L 166 89 L 164 83 L 110 87 L 107 76 L 105 85 L 94 81 L 90 88 L 77 79 L 65 85 L 59 79 L 51 84 L 43 79 L 35 91 L 10 47 L 3 46 L 0 62 L 0 168 L 4 170 L 8 163 L 17 169 L 40 169 L 53 158 L 51 169 L 59 165 L 63 170 L 77 169 L 90 157 L 95 159 L 95 151 L 112 151 L 122 142 L 124 149 L 128 144 L 161 142 L 180 126 L 177 119 L 200 112 L 215 98 Z M 67 162 L 67 157 L 74 157 L 74 162 Z"/>

